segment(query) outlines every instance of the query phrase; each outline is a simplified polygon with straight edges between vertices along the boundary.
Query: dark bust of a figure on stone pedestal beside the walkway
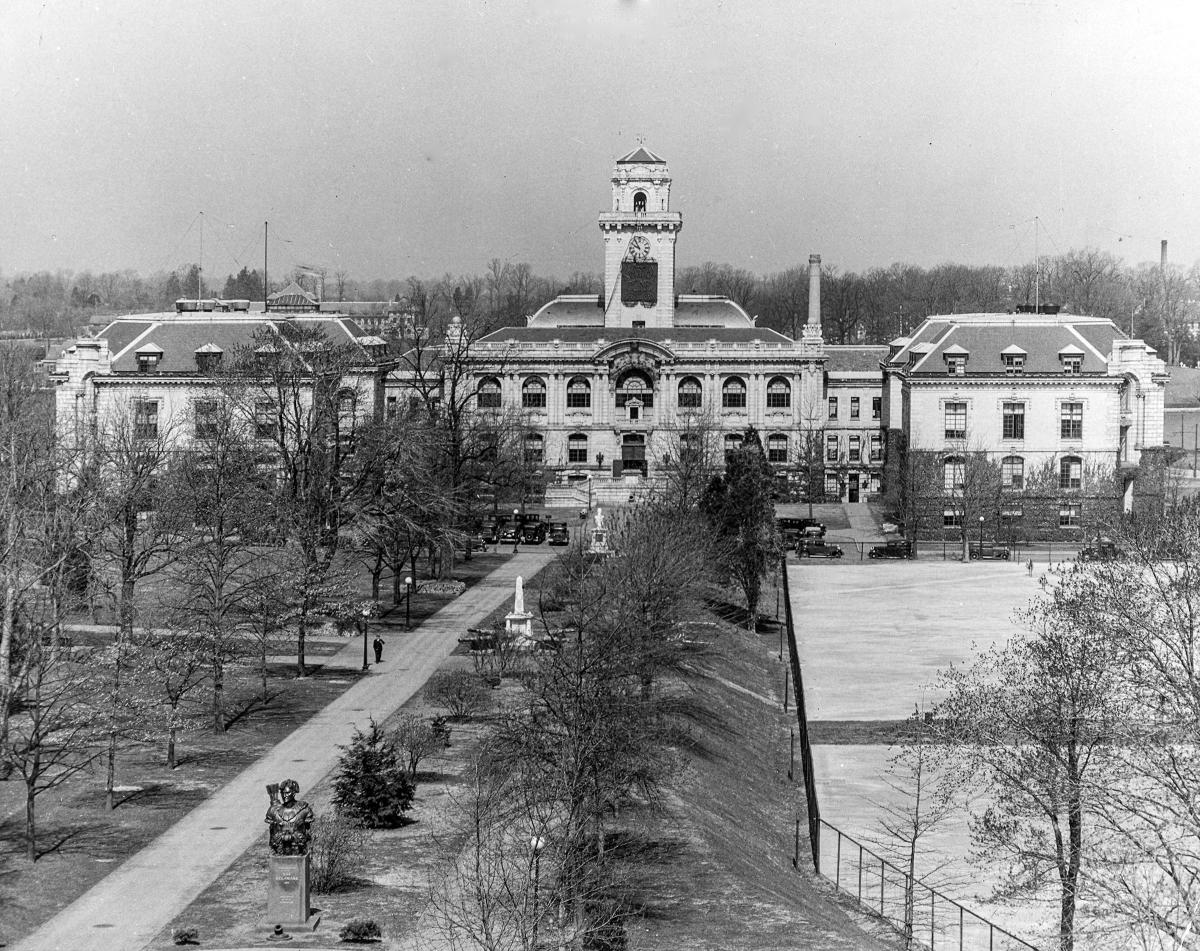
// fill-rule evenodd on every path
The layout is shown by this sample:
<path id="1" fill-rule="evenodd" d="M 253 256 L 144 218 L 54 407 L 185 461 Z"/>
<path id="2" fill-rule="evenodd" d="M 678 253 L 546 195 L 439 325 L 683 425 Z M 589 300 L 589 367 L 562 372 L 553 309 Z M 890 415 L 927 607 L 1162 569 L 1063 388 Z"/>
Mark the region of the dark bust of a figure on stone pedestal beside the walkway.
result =
<path id="1" fill-rule="evenodd" d="M 308 841 L 316 815 L 307 802 L 296 799 L 300 784 L 295 779 L 269 785 L 266 792 L 271 859 L 265 923 L 312 931 L 320 921 L 308 904 Z"/>

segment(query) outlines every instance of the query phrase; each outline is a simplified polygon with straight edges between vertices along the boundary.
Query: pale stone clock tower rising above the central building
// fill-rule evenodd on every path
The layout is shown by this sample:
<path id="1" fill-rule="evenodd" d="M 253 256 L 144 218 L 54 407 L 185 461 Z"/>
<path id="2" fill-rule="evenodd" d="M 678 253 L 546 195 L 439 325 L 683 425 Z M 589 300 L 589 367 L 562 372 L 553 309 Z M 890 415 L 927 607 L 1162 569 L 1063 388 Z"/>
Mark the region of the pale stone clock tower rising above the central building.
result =
<path id="1" fill-rule="evenodd" d="M 644 146 L 617 160 L 604 233 L 605 327 L 674 324 L 674 243 L 683 216 L 671 210 L 671 173 Z"/>

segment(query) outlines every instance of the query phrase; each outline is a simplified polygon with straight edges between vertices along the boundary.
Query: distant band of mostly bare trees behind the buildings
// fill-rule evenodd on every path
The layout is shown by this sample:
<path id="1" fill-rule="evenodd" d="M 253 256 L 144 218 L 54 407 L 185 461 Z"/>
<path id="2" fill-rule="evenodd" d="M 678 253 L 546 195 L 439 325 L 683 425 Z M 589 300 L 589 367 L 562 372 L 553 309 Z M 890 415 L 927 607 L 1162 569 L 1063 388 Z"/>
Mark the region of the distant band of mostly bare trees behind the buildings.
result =
<path id="1" fill-rule="evenodd" d="M 202 283 L 203 279 L 203 283 Z M 317 277 L 294 271 L 271 280 L 270 291 L 296 281 L 316 292 Z M 524 263 L 492 259 L 482 274 L 356 280 L 346 271 L 324 277 L 326 300 L 406 300 L 425 323 L 454 315 L 487 328 L 521 324 L 556 294 L 600 293 L 602 276 L 576 271 L 568 280 L 540 276 Z M 758 275 L 730 264 L 682 268 L 682 294 L 725 294 L 758 317 L 762 327 L 799 333 L 808 319 L 808 265 Z M 37 335 L 70 334 L 94 315 L 169 310 L 181 297 L 263 299 L 263 277 L 242 268 L 224 277 L 200 275 L 196 264 L 142 276 L 132 270 L 37 271 L 0 277 L 0 329 Z M 912 330 L 930 313 L 1008 311 L 1018 305 L 1058 304 L 1072 313 L 1109 317 L 1145 337 L 1169 363 L 1200 358 L 1193 328 L 1200 321 L 1200 265 L 1130 267 L 1096 249 L 1048 257 L 1040 268 L 892 264 L 864 271 L 824 265 L 821 318 L 830 343 L 884 343 Z"/>

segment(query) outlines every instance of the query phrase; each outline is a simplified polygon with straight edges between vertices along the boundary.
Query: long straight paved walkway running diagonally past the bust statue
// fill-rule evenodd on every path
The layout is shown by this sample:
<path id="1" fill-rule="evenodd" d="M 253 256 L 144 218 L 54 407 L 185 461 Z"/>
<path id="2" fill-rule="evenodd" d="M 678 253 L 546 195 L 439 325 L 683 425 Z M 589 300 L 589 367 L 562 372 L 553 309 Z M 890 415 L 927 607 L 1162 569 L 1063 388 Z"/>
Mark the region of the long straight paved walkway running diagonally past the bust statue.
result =
<path id="1" fill-rule="evenodd" d="M 428 680 L 468 627 L 512 597 L 553 554 L 522 552 L 480 580 L 412 634 L 389 639 L 384 662 L 307 723 L 234 777 L 102 881 L 18 943 L 16 951 L 140 951 L 263 835 L 266 784 L 292 777 L 301 796 L 336 765 L 340 744 L 368 717 L 383 720 Z M 358 657 L 352 640 L 332 658 Z M 266 883 L 263 883 L 265 913 Z"/>

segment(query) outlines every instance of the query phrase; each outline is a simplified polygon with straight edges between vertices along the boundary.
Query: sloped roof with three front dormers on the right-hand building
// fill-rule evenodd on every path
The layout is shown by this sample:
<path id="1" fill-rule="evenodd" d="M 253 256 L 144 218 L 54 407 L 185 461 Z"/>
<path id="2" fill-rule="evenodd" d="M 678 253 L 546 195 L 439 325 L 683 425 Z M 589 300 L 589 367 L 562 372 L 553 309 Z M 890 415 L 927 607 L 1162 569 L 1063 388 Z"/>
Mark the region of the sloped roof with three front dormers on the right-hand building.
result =
<path id="1" fill-rule="evenodd" d="M 1084 373 L 1106 373 L 1106 357 L 1114 340 L 1124 334 L 1111 322 L 1070 315 L 948 315 L 926 318 L 893 358 L 893 365 L 917 360 L 912 376 L 944 376 L 947 352 L 966 349 L 967 376 L 1004 373 L 1003 353 L 1024 351 L 1025 376 L 1062 375 L 1060 352 L 1076 347 L 1082 352 Z M 1070 352 L 1070 351 L 1068 351 Z M 924 353 L 924 355 L 920 355 Z"/>

